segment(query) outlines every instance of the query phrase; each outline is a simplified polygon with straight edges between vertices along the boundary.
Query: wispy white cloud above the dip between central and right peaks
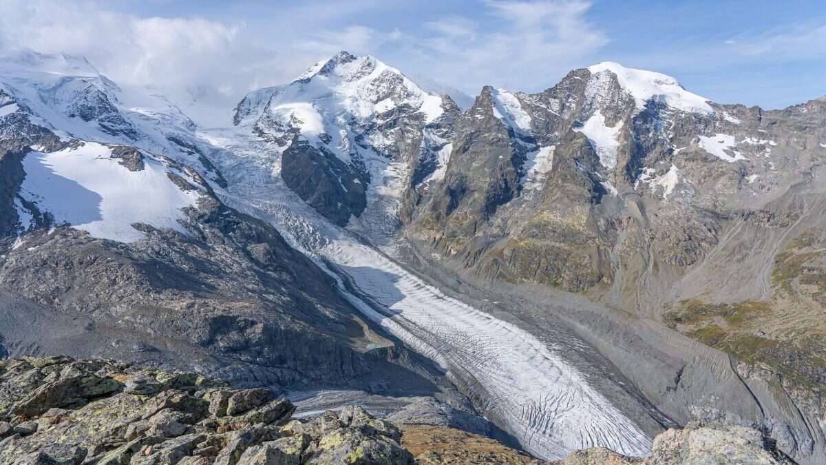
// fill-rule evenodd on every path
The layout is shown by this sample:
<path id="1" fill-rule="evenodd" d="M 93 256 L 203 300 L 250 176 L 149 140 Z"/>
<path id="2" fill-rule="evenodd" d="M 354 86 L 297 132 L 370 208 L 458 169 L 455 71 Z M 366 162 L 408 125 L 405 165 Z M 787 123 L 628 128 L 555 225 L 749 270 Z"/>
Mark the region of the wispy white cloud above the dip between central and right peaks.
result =
<path id="1" fill-rule="evenodd" d="M 608 42 L 586 21 L 589 2 L 484 4 L 485 24 L 463 17 L 428 22 L 433 34 L 411 44 L 434 79 L 473 94 L 485 84 L 545 89 Z"/>

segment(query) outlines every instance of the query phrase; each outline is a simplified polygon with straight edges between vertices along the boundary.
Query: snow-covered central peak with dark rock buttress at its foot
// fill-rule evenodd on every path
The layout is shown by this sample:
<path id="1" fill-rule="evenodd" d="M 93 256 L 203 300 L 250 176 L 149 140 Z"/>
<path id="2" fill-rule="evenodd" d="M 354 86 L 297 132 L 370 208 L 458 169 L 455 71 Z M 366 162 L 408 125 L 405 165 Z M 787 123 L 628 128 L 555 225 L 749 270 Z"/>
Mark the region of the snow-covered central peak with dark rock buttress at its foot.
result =
<path id="1" fill-rule="evenodd" d="M 381 61 L 343 51 L 291 84 L 250 93 L 233 122 L 277 147 L 282 178 L 325 217 L 392 230 L 406 189 L 439 170 L 458 111 Z"/>

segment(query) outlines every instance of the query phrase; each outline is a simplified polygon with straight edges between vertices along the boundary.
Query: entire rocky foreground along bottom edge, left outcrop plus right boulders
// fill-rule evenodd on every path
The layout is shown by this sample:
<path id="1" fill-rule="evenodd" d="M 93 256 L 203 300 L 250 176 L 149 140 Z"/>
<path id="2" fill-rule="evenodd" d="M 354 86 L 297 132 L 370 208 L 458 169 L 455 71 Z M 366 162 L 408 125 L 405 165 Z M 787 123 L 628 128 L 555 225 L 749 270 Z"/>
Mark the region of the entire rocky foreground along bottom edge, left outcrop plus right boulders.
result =
<path id="1" fill-rule="evenodd" d="M 69 357 L 2 360 L 0 464 L 539 463 L 458 429 L 400 429 L 357 406 L 313 419 L 292 419 L 294 410 L 267 389 L 232 389 L 196 373 Z M 757 430 L 691 424 L 657 436 L 649 458 L 595 448 L 558 463 L 791 462 Z"/>

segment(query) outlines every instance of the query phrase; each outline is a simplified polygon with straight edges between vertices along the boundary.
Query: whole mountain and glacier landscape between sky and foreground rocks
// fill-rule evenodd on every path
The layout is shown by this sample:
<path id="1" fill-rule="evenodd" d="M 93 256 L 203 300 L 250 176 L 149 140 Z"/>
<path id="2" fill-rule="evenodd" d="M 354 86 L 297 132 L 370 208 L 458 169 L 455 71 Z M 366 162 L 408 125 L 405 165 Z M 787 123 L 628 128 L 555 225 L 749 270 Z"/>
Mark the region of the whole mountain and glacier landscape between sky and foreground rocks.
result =
<path id="1" fill-rule="evenodd" d="M 700 422 L 826 463 L 826 98 L 719 104 L 605 62 L 460 108 L 342 51 L 219 127 L 181 108 L 83 58 L 0 60 L 0 357 L 543 460 Z"/>

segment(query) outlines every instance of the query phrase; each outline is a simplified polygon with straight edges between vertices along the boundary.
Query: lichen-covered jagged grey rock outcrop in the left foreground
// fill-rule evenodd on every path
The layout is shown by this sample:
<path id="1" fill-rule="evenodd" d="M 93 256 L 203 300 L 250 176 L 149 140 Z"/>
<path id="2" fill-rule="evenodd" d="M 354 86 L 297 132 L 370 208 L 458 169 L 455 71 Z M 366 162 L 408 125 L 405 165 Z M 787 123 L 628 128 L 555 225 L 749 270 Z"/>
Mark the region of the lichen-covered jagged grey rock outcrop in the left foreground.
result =
<path id="1" fill-rule="evenodd" d="M 268 390 L 69 357 L 0 362 L 0 463 L 413 464 L 401 431 L 359 407 L 292 419 Z"/>

